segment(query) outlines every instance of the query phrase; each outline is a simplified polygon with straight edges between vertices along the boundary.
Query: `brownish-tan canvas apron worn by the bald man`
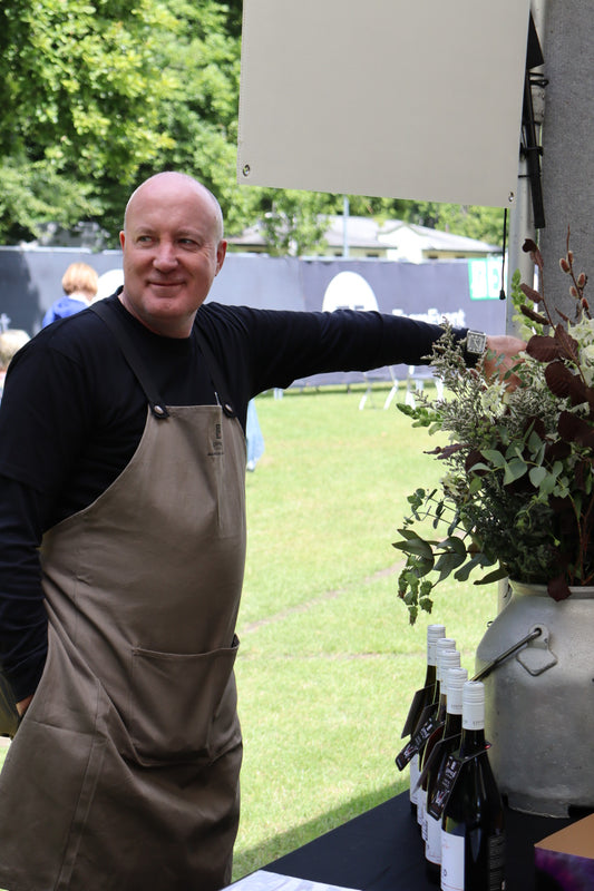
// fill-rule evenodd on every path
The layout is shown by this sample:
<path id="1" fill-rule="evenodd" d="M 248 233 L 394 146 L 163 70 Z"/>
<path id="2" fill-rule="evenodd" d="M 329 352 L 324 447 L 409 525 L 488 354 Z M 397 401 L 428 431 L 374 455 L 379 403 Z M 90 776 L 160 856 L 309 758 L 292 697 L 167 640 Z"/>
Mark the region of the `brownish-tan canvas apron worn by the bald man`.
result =
<path id="1" fill-rule="evenodd" d="M 0 776 L 9 891 L 230 880 L 245 440 L 220 407 L 168 413 L 45 537 L 48 659 Z"/>

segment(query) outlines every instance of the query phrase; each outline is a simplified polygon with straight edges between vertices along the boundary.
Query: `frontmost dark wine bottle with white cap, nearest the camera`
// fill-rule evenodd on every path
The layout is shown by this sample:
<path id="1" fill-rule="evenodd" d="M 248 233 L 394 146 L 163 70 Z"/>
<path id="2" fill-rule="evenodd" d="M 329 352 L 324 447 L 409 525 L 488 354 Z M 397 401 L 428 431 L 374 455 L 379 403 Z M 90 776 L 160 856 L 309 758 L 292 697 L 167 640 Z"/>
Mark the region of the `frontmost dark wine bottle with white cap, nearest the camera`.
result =
<path id="1" fill-rule="evenodd" d="M 441 823 L 442 891 L 505 889 L 504 807 L 485 743 L 485 687 L 462 689 L 462 734 L 452 762 L 459 770 Z"/>

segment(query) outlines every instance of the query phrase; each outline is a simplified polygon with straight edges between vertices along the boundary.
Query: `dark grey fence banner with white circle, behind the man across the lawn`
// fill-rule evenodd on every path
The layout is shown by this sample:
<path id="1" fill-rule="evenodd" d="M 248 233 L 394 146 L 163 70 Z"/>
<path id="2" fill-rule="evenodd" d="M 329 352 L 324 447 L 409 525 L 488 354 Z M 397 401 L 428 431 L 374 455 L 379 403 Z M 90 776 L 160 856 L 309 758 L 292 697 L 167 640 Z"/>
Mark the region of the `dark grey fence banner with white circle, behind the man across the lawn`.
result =
<path id="1" fill-rule="evenodd" d="M 100 296 L 108 296 L 120 280 L 119 251 L 92 254 L 65 248 L 1 248 L 2 326 L 37 333 L 46 310 L 62 294 L 60 283 L 66 268 L 77 262 L 88 263 L 97 270 Z M 210 300 L 267 310 L 332 311 L 348 306 L 403 314 L 434 323 L 439 323 L 445 316 L 456 326 L 476 327 L 489 334 L 503 333 L 505 302 L 489 296 L 489 291 L 498 294 L 498 288 L 477 285 L 477 282 L 487 282 L 487 264 L 493 264 L 493 261 L 415 264 L 227 254 Z M 301 383 L 349 383 L 354 380 L 362 380 L 362 376 L 327 375 L 323 381 L 312 379 Z"/>

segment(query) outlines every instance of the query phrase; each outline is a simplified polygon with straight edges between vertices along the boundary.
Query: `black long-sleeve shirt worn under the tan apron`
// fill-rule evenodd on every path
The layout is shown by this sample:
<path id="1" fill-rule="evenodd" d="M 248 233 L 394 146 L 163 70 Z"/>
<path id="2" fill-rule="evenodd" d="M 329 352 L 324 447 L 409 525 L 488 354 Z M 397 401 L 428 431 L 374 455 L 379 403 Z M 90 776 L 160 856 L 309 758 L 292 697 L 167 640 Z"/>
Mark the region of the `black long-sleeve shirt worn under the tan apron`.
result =
<path id="1" fill-rule="evenodd" d="M 215 404 L 195 331 L 163 337 L 119 315 L 169 405 Z M 295 313 L 204 304 L 196 316 L 245 428 L 249 400 L 331 371 L 422 364 L 438 325 L 338 311 Z M 457 332 L 464 336 L 466 331 Z M 90 505 L 132 459 L 146 396 L 105 322 L 85 310 L 33 337 L 12 361 L 0 405 L 0 663 L 17 701 L 39 682 L 47 618 L 38 548 L 45 531 Z"/>

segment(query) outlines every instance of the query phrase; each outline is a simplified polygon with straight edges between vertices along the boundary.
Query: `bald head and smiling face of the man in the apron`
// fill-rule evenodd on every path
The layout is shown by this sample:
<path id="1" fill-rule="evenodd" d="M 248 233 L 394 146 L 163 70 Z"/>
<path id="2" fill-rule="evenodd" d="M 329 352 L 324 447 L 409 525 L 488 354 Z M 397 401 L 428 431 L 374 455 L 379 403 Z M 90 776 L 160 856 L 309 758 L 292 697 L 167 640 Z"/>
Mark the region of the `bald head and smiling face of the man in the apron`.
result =
<path id="1" fill-rule="evenodd" d="M 189 176 L 157 174 L 129 199 L 119 241 L 124 306 L 155 334 L 188 337 L 225 258 L 214 196 Z"/>

